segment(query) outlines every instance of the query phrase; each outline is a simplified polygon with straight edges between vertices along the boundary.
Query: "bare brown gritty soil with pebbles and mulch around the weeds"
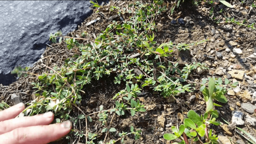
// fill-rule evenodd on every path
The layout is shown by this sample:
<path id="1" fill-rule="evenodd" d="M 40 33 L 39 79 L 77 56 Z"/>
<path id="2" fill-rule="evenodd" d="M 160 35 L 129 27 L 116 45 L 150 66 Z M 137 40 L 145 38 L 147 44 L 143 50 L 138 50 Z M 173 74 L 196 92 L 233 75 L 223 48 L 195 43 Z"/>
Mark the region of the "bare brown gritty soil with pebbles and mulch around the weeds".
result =
<path id="1" fill-rule="evenodd" d="M 231 4 L 235 5 L 236 8 L 227 8 L 221 3 L 215 6 L 203 3 L 199 3 L 198 6 L 194 6 L 189 2 L 183 3 L 179 8 L 175 8 L 172 15 L 170 14 L 170 10 L 167 10 L 165 14 L 155 19 L 157 32 L 155 32 L 154 41 L 157 41 L 158 44 L 168 41 L 172 41 L 173 43 L 189 44 L 208 39 L 208 41 L 202 44 L 191 46 L 189 48 L 189 56 L 185 62 L 204 62 L 208 64 L 207 67 L 209 67 L 210 70 L 201 74 L 193 71 L 188 79 L 193 82 L 201 82 L 202 78 L 215 76 L 217 78 L 221 77 L 223 80 L 228 78 L 233 81 L 232 77 L 228 74 L 228 70 L 230 70 L 229 68 L 231 65 L 233 66 L 232 70 L 239 69 L 249 71 L 252 70 L 252 67 L 256 63 L 255 60 L 246 59 L 248 56 L 256 52 L 256 30 L 245 26 L 239 26 L 234 23 L 225 23 L 225 17 L 234 17 L 235 20 L 240 21 L 240 23 L 242 23 L 244 18 L 247 20 L 255 20 L 256 9 L 250 9 L 249 7 L 252 5 L 252 2 L 253 1 L 247 1 L 242 4 L 240 1 L 232 1 Z M 119 6 L 120 8 L 127 7 L 130 3 L 131 1 L 110 1 L 110 5 Z M 216 17 L 217 20 L 220 19 L 219 24 L 215 23 L 215 20 L 212 20 L 211 16 L 209 16 L 209 11 L 212 7 L 214 7 L 214 17 Z M 225 9 L 225 11 L 219 13 L 221 8 Z M 116 13 L 109 12 L 109 5 L 98 10 L 104 15 L 102 16 L 99 13 L 93 13 L 85 20 L 84 23 L 81 24 L 81 26 L 78 27 L 78 30 L 70 32 L 68 36 L 73 35 L 76 37 L 82 37 L 81 33 L 83 31 L 87 31 L 92 39 L 96 38 L 95 36 L 101 33 L 101 31 L 104 31 L 105 28 L 112 23 L 107 19 L 116 15 Z M 94 12 L 95 11 L 96 10 L 94 10 Z M 172 20 L 177 20 L 178 18 L 184 18 L 186 16 L 189 16 L 191 20 L 189 22 L 185 22 L 184 25 L 172 24 Z M 98 17 L 101 19 L 89 26 L 86 26 L 89 21 Z M 128 15 L 124 15 L 123 18 L 125 20 L 125 18 L 128 18 Z M 223 28 L 225 25 L 232 25 L 232 28 L 230 30 L 226 30 Z M 237 45 L 231 46 L 230 41 L 236 42 Z M 229 48 L 230 52 L 227 52 L 226 48 Z M 242 54 L 233 53 L 236 57 L 231 58 L 230 54 L 232 54 L 233 48 L 241 49 Z M 220 52 L 222 54 L 222 58 L 217 58 L 216 52 Z M 79 55 L 79 49 L 73 48 L 68 50 L 65 42 L 53 44 L 51 47 L 47 47 L 43 54 L 43 58 L 33 67 L 31 72 L 40 74 L 42 72 L 49 71 L 46 67 L 42 67 L 40 64 L 44 63 L 49 67 L 54 67 L 55 65 L 60 66 L 61 61 L 74 56 L 74 54 Z M 176 53 L 169 59 L 175 62 L 178 57 L 178 53 Z M 216 73 L 216 69 L 218 68 L 223 68 L 224 71 Z M 252 77 L 253 76 L 254 75 L 252 75 Z M 121 82 L 121 84 L 114 84 L 114 77 L 114 74 L 104 76 L 99 81 L 92 81 L 91 84 L 84 86 L 86 94 L 82 95 L 80 105 L 80 108 L 84 113 L 90 114 L 97 112 L 99 111 L 100 105 L 103 105 L 104 109 L 113 108 L 115 105 L 115 101 L 112 100 L 113 96 L 125 88 L 124 82 Z M 0 95 L 3 97 L 0 97 L 0 100 L 12 105 L 9 94 L 19 92 L 24 102 L 31 101 L 30 95 L 34 89 L 30 83 L 35 79 L 36 78 L 33 76 L 23 77 L 13 84 L 1 86 Z M 241 83 L 241 92 L 251 90 L 251 85 L 248 83 L 246 78 L 243 78 L 243 80 L 237 79 L 237 81 Z M 116 115 L 113 119 L 112 126 L 116 128 L 118 132 L 129 132 L 131 125 L 134 126 L 135 129 L 140 128 L 142 130 L 140 139 L 134 140 L 134 136 L 130 135 L 124 140 L 124 143 L 172 143 L 174 141 L 166 141 L 163 138 L 163 134 L 172 132 L 170 129 L 172 125 L 177 126 L 182 124 L 183 119 L 186 118 L 186 114 L 190 109 L 195 110 L 198 114 L 203 114 L 205 112 L 206 104 L 199 88 L 200 85 L 196 85 L 193 92 L 182 93 L 175 97 L 176 100 L 174 103 L 168 103 L 160 94 L 153 94 L 153 90 L 150 87 L 144 87 L 143 92 L 149 93 L 138 96 L 138 99 L 140 99 L 140 101 L 145 105 L 147 111 L 144 113 L 136 113 L 133 117 L 128 111 L 124 116 Z M 191 95 L 196 96 L 196 99 L 193 102 L 189 102 Z M 235 95 L 226 94 L 225 96 L 228 99 L 228 103 L 218 103 L 223 105 L 223 107 L 215 107 L 215 109 L 220 112 L 219 118 L 217 119 L 218 121 L 226 124 L 220 118 L 222 117 L 228 122 L 231 122 L 233 110 L 239 110 L 243 112 L 244 115 L 248 114 L 251 117 L 256 117 L 255 113 L 250 114 L 241 108 L 241 104 L 251 102 L 251 95 L 251 98 L 248 99 L 239 96 L 237 93 Z M 79 111 L 74 108 L 72 115 L 77 116 L 79 114 Z M 91 117 L 92 122 L 88 124 L 88 129 L 90 132 L 94 132 L 99 135 L 98 139 L 95 140 L 95 142 L 98 142 L 99 140 L 103 140 L 105 137 L 105 135 L 101 133 L 101 130 L 104 127 L 101 122 L 99 122 L 99 117 L 97 115 L 92 115 Z M 85 125 L 85 120 L 81 120 L 80 123 L 74 125 L 73 128 L 85 131 Z M 244 125 L 239 127 L 256 137 L 255 126 L 253 127 L 245 122 Z M 213 129 L 214 134 L 226 134 L 221 126 L 211 125 L 210 128 Z M 241 137 L 234 130 L 231 132 L 232 135 L 227 137 L 231 138 L 233 141 L 240 140 L 240 143 L 247 143 L 246 139 Z M 108 136 L 107 141 L 111 139 L 118 139 L 118 137 L 118 133 L 112 133 Z M 76 140 L 75 143 L 85 143 L 84 138 L 72 136 L 72 139 Z M 66 141 L 67 140 L 62 139 L 58 141 L 58 143 L 66 143 Z M 117 143 L 120 143 L 120 141 Z"/>

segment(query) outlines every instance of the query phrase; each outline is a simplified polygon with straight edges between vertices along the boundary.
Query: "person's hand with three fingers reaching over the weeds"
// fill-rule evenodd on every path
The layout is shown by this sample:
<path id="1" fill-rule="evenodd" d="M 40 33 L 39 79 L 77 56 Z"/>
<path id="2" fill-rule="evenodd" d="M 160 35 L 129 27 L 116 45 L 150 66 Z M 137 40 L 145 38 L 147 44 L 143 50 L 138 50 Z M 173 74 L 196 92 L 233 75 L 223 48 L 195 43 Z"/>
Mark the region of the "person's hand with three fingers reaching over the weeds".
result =
<path id="1" fill-rule="evenodd" d="M 67 135 L 72 127 L 70 121 L 49 125 L 52 112 L 15 118 L 24 108 L 19 103 L 0 111 L 0 144 L 46 144 Z"/>

